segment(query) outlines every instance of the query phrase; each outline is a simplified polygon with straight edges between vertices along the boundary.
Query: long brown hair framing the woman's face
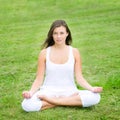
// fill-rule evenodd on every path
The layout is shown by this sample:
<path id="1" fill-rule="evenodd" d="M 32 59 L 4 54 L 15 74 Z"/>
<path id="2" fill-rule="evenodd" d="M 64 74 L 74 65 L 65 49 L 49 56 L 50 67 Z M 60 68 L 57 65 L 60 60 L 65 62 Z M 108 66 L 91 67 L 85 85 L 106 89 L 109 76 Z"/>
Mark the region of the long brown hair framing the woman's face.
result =
<path id="1" fill-rule="evenodd" d="M 50 30 L 47 34 L 47 38 L 45 40 L 45 42 L 42 45 L 42 48 L 47 48 L 49 46 L 54 45 L 54 40 L 53 40 L 53 31 L 56 27 L 60 27 L 60 26 L 64 26 L 66 28 L 66 31 L 68 33 L 68 36 L 66 38 L 66 45 L 71 45 L 72 43 L 72 36 L 71 36 L 71 32 L 70 29 L 68 28 L 68 25 L 66 24 L 66 22 L 64 20 L 56 20 L 52 23 Z"/>

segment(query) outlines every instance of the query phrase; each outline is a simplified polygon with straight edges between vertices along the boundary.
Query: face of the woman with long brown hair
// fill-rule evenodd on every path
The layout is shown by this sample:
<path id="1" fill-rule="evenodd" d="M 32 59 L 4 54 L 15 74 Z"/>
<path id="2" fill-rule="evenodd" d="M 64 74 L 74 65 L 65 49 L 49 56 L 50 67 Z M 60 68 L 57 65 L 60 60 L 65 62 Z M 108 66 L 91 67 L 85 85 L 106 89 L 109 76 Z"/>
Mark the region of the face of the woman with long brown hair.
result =
<path id="1" fill-rule="evenodd" d="M 64 26 L 56 27 L 53 31 L 53 40 L 55 44 L 65 44 L 68 33 Z"/>

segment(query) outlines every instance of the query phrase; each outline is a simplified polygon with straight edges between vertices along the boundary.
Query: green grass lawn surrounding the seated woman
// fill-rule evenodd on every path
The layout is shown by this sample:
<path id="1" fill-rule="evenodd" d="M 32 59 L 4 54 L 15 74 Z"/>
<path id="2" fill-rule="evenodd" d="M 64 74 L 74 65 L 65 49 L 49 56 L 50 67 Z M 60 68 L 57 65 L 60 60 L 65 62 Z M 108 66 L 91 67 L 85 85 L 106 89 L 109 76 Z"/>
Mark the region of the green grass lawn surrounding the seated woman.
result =
<path id="1" fill-rule="evenodd" d="M 36 75 L 40 45 L 51 23 L 64 19 L 80 50 L 84 77 L 104 87 L 100 104 L 26 113 L 23 90 Z M 0 0 L 0 119 L 119 120 L 119 0 Z"/>

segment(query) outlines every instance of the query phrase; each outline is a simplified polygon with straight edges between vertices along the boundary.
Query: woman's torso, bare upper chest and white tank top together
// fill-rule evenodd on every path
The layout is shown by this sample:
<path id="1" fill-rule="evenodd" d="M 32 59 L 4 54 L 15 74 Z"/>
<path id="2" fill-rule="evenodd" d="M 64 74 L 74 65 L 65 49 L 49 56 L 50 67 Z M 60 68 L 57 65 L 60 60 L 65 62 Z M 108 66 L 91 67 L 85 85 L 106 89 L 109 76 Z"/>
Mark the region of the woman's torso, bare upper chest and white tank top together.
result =
<path id="1" fill-rule="evenodd" d="M 46 77 L 42 89 L 48 91 L 75 91 L 74 64 L 75 59 L 71 46 L 65 51 L 46 51 Z M 54 54 L 53 54 L 54 53 Z"/>

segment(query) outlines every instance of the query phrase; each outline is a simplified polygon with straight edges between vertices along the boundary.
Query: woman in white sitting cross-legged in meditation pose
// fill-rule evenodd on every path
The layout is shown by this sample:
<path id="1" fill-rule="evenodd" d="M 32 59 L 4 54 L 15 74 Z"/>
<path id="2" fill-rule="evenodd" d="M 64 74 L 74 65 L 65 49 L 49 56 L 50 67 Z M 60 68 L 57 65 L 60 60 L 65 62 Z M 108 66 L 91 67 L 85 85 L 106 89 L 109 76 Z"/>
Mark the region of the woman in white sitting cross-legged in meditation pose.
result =
<path id="1" fill-rule="evenodd" d="M 25 111 L 55 106 L 89 107 L 99 103 L 102 87 L 93 87 L 83 78 L 79 51 L 71 43 L 66 22 L 54 21 L 39 55 L 36 79 L 31 89 L 22 93 Z M 77 89 L 74 77 L 87 90 Z"/>

